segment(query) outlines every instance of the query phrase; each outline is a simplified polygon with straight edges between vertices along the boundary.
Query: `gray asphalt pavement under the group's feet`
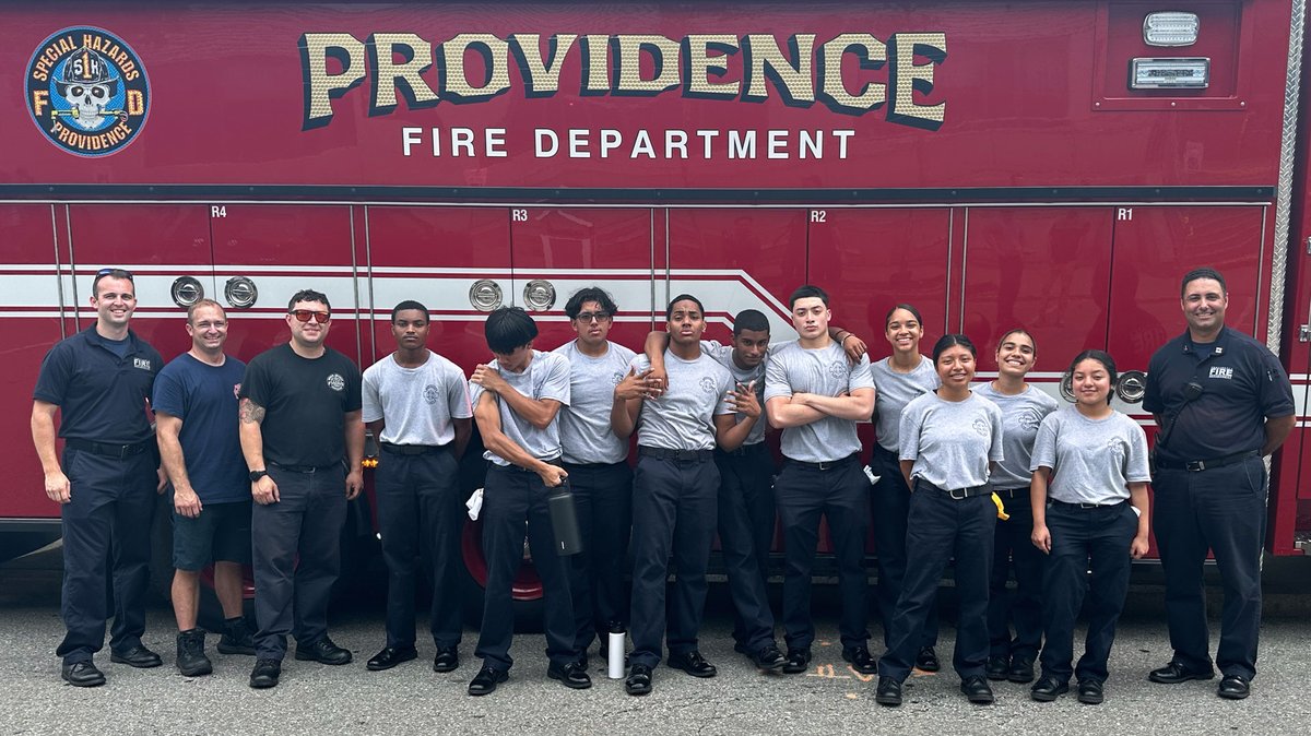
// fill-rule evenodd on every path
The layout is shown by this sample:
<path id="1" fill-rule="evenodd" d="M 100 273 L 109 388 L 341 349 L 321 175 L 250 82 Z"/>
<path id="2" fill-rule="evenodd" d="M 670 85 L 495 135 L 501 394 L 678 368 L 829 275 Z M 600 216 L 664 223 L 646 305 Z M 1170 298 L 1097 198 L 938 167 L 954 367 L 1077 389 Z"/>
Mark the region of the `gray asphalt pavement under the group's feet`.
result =
<path id="1" fill-rule="evenodd" d="M 775 587 L 776 588 L 776 587 Z M 773 591 L 777 595 L 777 589 Z M 593 650 L 590 690 L 569 690 L 545 676 L 540 634 L 515 638 L 510 681 L 492 695 L 465 694 L 477 672 L 477 633 L 465 631 L 460 668 L 431 671 L 433 647 L 421 634 L 420 659 L 388 672 L 367 672 L 364 660 L 383 644 L 383 605 L 376 591 L 363 591 L 338 605 L 332 636 L 355 661 L 325 667 L 287 657 L 282 685 L 252 690 L 252 657 L 208 652 L 214 674 L 182 677 L 173 667 L 174 623 L 163 604 L 149 612 L 146 644 L 165 665 L 132 669 L 97 664 L 109 678 L 102 688 L 79 689 L 59 678 L 54 648 L 63 635 L 59 617 L 58 550 L 0 566 L 0 735 L 3 733 L 1306 733 L 1311 726 L 1308 634 L 1311 622 L 1298 602 L 1272 601 L 1261 633 L 1260 674 L 1247 701 L 1215 697 L 1213 681 L 1154 685 L 1150 669 L 1169 657 L 1159 593 L 1134 591 L 1110 661 L 1106 702 L 1084 706 L 1065 695 L 1054 703 L 1029 699 L 1028 685 L 994 684 L 996 705 L 973 706 L 957 691 L 950 672 L 954 631 L 944 616 L 939 653 L 948 667 L 907 681 L 906 703 L 874 703 L 876 677 L 857 674 L 842 661 L 836 642 L 836 596 L 817 587 L 819 630 L 815 660 L 806 674 L 762 674 L 733 652 L 728 591 L 712 585 L 701 651 L 718 677 L 696 680 L 661 667 L 656 690 L 645 698 L 624 693 L 608 680 Z M 949 596 L 948 596 L 949 598 Z M 777 602 L 777 601 L 775 601 Z M 1156 598 L 1159 604 L 1159 598 Z M 1298 610 L 1301 608 L 1301 610 Z M 420 622 L 420 631 L 425 623 Z M 871 623 L 871 650 L 881 650 L 878 622 Z M 1080 633 L 1082 635 L 1082 633 Z M 1076 652 L 1080 647 L 1076 644 Z"/>

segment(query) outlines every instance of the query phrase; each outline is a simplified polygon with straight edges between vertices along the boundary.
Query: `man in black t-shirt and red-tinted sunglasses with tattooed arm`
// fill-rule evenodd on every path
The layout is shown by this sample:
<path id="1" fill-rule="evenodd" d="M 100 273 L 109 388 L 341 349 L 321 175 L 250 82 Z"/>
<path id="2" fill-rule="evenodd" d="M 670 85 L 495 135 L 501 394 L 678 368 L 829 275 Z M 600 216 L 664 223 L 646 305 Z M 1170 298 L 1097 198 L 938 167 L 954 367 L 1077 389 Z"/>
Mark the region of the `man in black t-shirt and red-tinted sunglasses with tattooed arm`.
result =
<path id="1" fill-rule="evenodd" d="M 254 356 L 241 382 L 241 451 L 256 503 L 252 688 L 278 684 L 287 634 L 296 659 L 351 659 L 328 638 L 328 598 L 346 502 L 363 488 L 364 423 L 359 368 L 324 344 L 330 309 L 325 295 L 296 292 L 287 304 L 291 340 Z"/>

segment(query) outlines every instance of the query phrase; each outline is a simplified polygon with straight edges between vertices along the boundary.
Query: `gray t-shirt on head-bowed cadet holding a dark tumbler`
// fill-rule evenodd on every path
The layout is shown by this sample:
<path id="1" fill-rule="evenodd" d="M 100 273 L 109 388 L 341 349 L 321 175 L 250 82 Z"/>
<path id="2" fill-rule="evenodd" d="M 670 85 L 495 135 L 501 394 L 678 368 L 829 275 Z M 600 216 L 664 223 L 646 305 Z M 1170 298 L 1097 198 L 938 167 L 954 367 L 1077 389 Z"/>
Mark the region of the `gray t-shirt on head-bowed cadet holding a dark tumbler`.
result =
<path id="1" fill-rule="evenodd" d="M 501 364 L 493 360 L 489 367 L 501 371 Z M 555 352 L 532 351 L 532 360 L 523 373 L 501 371 L 501 377 L 520 394 L 531 399 L 553 398 L 569 406 L 569 361 L 565 356 Z M 469 384 L 469 399 L 473 406 L 479 405 L 479 398 L 484 393 L 479 384 Z M 510 440 L 523 448 L 524 452 L 538 460 L 555 460 L 560 457 L 560 415 L 551 420 L 545 430 L 539 430 L 531 422 L 515 414 L 510 405 L 498 401 L 501 406 L 501 431 Z M 561 407 L 564 411 L 564 407 Z M 482 457 L 492 462 L 509 466 L 510 462 L 498 457 L 492 451 L 482 453 Z"/>

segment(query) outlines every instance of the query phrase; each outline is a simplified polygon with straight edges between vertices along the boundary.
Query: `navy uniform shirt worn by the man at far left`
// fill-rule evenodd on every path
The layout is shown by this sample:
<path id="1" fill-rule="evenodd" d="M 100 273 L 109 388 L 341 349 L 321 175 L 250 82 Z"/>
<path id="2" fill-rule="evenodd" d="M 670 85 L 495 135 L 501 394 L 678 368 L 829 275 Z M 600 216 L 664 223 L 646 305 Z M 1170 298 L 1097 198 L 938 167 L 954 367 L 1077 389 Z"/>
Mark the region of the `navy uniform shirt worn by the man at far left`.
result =
<path id="1" fill-rule="evenodd" d="M 96 325 L 55 343 L 41 361 L 33 398 L 59 406 L 59 436 L 113 445 L 155 439 L 147 414 L 155 376 L 164 367 L 159 351 L 127 331 L 119 358 Z"/>

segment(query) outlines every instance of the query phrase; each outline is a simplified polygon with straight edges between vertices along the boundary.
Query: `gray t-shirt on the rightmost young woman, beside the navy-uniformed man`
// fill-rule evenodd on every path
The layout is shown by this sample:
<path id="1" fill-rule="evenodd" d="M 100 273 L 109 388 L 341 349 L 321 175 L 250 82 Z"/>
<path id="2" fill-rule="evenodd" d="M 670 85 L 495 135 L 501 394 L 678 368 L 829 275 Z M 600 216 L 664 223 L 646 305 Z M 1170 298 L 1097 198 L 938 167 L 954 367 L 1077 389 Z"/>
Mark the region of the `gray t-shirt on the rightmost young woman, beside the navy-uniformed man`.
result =
<path id="1" fill-rule="evenodd" d="M 1047 498 L 1066 503 L 1116 503 L 1129 498 L 1129 483 L 1151 481 L 1137 422 L 1118 411 L 1088 419 L 1072 406 L 1042 420 L 1029 468 L 1050 468 Z"/>

